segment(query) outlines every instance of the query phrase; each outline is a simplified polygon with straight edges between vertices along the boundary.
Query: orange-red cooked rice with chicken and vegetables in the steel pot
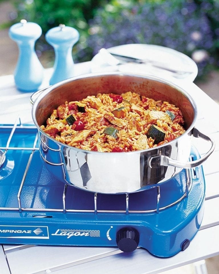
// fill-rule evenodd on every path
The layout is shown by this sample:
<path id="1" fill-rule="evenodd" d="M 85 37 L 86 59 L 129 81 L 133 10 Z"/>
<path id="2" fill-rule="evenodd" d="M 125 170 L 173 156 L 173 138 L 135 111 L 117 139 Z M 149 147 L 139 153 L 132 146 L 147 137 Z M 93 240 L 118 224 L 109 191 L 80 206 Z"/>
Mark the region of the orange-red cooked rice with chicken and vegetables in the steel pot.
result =
<path id="1" fill-rule="evenodd" d="M 120 148 L 121 151 L 145 149 L 145 145 L 142 146 L 139 138 L 146 139 L 145 136 L 152 123 L 163 129 L 165 139 L 154 144 L 155 140 L 148 137 L 147 148 L 168 143 L 185 132 L 182 127 L 184 124 L 182 112 L 175 105 L 160 100 L 155 101 L 130 91 L 121 94 L 121 96 L 123 98 L 121 103 L 113 102 L 109 94 L 97 94 L 96 96 L 87 96 L 81 101 L 64 102 L 53 110 L 50 118 L 46 121 L 46 126 L 42 125 L 41 129 L 61 143 L 88 151 L 102 152 L 111 152 L 115 147 Z M 85 104 L 84 113 L 78 111 L 78 103 Z M 115 117 L 112 114 L 113 110 L 121 107 L 125 107 L 123 109 L 124 117 L 112 118 L 116 119 L 117 125 L 112 124 L 108 119 Z M 168 119 L 159 118 L 156 120 L 155 118 L 154 121 L 150 120 L 149 122 L 148 115 L 153 113 L 151 111 L 165 113 L 167 110 L 175 115 L 173 121 L 168 116 Z M 158 112 L 154 113 L 158 114 Z M 78 131 L 74 124 L 65 125 L 63 119 L 69 114 L 84 124 L 83 130 Z M 117 139 L 104 133 L 104 129 L 107 127 L 114 127 L 118 130 Z"/>

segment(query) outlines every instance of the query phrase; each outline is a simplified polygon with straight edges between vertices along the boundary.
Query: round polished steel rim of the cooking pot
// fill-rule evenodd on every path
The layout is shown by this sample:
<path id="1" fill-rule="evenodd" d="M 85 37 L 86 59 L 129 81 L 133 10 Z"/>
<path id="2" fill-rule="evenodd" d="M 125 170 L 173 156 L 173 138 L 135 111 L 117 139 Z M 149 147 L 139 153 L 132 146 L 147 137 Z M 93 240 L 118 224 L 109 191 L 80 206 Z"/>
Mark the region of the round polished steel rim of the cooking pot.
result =
<path id="1" fill-rule="evenodd" d="M 72 78 L 69 78 L 69 79 L 66 79 L 66 80 L 63 80 L 63 81 L 60 81 L 54 85 L 51 85 L 49 86 L 48 88 L 45 88 L 45 90 L 43 90 L 42 93 L 39 94 L 39 96 L 36 98 L 35 102 L 33 103 L 33 106 L 32 106 L 32 111 L 31 111 L 31 114 L 32 114 L 32 119 L 33 119 L 33 122 L 35 123 L 35 126 L 37 127 L 38 131 L 40 131 L 44 136 L 46 136 L 48 139 L 54 141 L 57 145 L 59 145 L 60 147 L 63 146 L 63 147 L 67 147 L 67 148 L 71 148 L 73 150 L 75 150 L 76 152 L 86 152 L 86 153 L 101 153 L 103 154 L 102 152 L 99 152 L 99 151 L 89 151 L 89 150 L 84 150 L 84 149 L 78 149 L 76 147 L 72 147 L 72 146 L 69 146 L 67 144 L 64 144 L 60 141 L 57 141 L 55 140 L 54 138 L 50 137 L 49 135 L 47 135 L 41 128 L 40 126 L 38 125 L 38 123 L 36 122 L 36 107 L 38 105 L 38 102 L 40 102 L 40 100 L 42 100 L 42 98 L 44 98 L 44 96 L 46 96 L 49 92 L 51 92 L 52 90 L 54 90 L 55 88 L 58 88 L 62 85 L 65 85 L 66 83 L 69 83 L 69 82 L 72 82 L 72 81 L 75 81 L 75 80 L 80 80 L 80 79 L 85 79 L 85 78 L 94 78 L 94 77 L 100 77 L 100 76 L 109 76 L 109 75 L 119 75 L 119 76 L 131 76 L 131 77 L 139 77 L 139 78 L 146 78 L 146 79 L 149 79 L 149 80 L 155 80 L 155 81 L 158 81 L 160 83 L 164 83 L 164 84 L 167 84 L 175 89 L 177 89 L 177 91 L 181 92 L 184 96 L 186 96 L 186 98 L 189 100 L 190 104 L 192 105 L 192 108 L 194 110 L 194 118 L 193 118 L 193 121 L 191 123 L 191 125 L 188 127 L 188 129 L 186 129 L 186 131 L 179 137 L 177 137 L 176 139 L 166 143 L 166 144 L 163 144 L 163 145 L 159 145 L 157 147 L 152 147 L 152 148 L 149 148 L 149 149 L 144 149 L 144 150 L 136 150 L 136 151 L 128 151 L 128 152 L 120 152 L 120 154 L 131 154 L 131 153 L 142 153 L 142 152 L 145 152 L 145 151 L 153 151 L 153 150 L 156 150 L 156 149 L 159 149 L 159 148 L 162 148 L 162 147 L 165 147 L 169 144 L 173 144 L 176 140 L 179 140 L 180 138 L 182 138 L 186 133 L 188 134 L 190 131 L 192 131 L 192 129 L 194 128 L 194 123 L 196 121 L 196 118 L 197 118 L 197 107 L 196 107 L 196 103 L 194 102 L 194 99 L 190 96 L 190 94 L 188 94 L 188 92 L 186 92 L 183 88 L 181 88 L 179 85 L 169 81 L 169 80 L 166 80 L 164 78 L 160 78 L 160 77 L 157 77 L 157 76 L 154 76 L 154 75 L 149 75 L 149 74 L 141 74 L 141 73 L 130 73 L 130 72 L 117 72 L 117 71 L 113 71 L 113 72 L 103 72 L 103 73 L 86 73 L 86 74 L 82 74 L 82 75 L 78 75 L 78 76 L 75 76 L 75 77 L 72 77 Z M 108 154 L 108 153 L 105 153 L 105 154 Z"/>

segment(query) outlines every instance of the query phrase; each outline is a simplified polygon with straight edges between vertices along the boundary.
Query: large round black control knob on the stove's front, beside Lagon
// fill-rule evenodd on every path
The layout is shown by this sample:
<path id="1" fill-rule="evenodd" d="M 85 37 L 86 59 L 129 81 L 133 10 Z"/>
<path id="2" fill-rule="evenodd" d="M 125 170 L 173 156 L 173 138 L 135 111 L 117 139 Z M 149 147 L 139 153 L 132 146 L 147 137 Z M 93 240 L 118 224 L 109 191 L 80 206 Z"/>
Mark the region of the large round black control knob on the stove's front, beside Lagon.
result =
<path id="1" fill-rule="evenodd" d="M 116 243 L 121 251 L 132 252 L 139 244 L 139 232 L 133 227 L 121 228 L 116 233 Z"/>

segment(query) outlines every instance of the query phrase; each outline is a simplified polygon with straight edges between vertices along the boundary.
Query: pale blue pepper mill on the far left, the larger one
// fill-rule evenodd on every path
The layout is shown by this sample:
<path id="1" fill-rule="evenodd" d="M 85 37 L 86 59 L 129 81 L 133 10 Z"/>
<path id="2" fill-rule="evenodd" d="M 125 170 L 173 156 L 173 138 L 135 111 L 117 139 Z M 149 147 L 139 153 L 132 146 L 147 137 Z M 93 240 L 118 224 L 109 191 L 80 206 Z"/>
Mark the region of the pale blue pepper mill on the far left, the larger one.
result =
<path id="1" fill-rule="evenodd" d="M 36 91 L 43 80 L 43 67 L 34 46 L 42 34 L 40 26 L 22 19 L 9 29 L 9 36 L 19 48 L 19 57 L 14 72 L 15 85 L 21 91 Z"/>

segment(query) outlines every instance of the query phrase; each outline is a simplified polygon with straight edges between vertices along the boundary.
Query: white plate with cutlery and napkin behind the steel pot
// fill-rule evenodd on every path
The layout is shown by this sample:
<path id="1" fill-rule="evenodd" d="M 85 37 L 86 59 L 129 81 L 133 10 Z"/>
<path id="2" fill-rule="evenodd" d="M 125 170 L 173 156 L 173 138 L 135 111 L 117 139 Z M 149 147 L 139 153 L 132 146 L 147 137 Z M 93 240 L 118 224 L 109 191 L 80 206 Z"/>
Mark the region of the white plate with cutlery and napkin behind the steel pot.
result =
<path id="1" fill-rule="evenodd" d="M 172 81 L 186 79 L 191 82 L 198 74 L 198 67 L 190 57 L 171 48 L 148 44 L 126 44 L 108 48 L 107 51 L 111 54 L 141 59 L 143 62 L 120 60 L 119 63 L 113 64 L 113 60 L 110 59 L 106 51 L 100 50 L 91 61 L 92 72 L 145 73 Z"/>

